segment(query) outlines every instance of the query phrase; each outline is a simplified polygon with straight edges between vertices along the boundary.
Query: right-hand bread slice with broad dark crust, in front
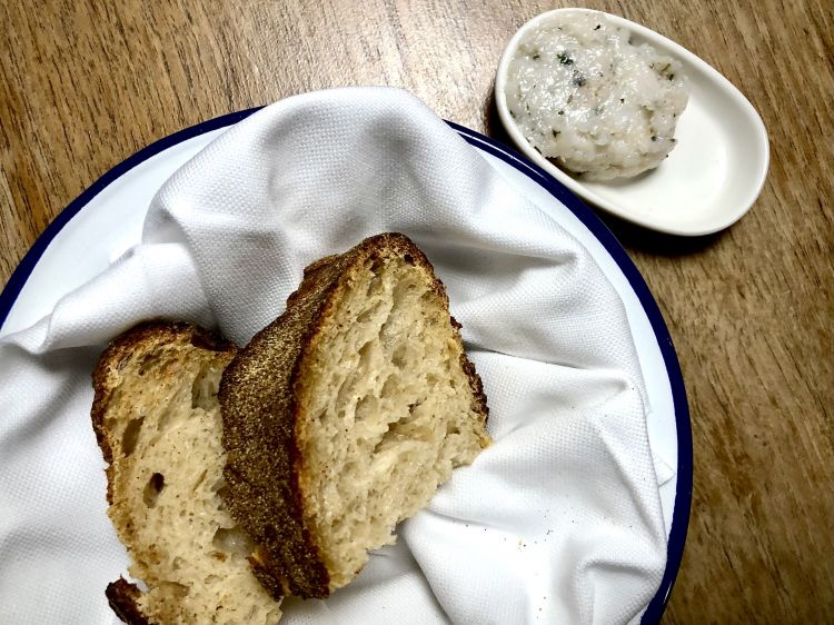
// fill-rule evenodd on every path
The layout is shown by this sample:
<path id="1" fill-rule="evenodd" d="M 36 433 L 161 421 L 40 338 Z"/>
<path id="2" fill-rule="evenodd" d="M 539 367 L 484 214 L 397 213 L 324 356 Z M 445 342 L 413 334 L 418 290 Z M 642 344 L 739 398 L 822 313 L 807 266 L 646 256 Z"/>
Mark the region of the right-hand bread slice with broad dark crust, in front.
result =
<path id="1" fill-rule="evenodd" d="M 459 327 L 425 255 L 385 234 L 310 265 L 238 353 L 220 385 L 222 497 L 265 584 L 328 596 L 489 444 Z"/>

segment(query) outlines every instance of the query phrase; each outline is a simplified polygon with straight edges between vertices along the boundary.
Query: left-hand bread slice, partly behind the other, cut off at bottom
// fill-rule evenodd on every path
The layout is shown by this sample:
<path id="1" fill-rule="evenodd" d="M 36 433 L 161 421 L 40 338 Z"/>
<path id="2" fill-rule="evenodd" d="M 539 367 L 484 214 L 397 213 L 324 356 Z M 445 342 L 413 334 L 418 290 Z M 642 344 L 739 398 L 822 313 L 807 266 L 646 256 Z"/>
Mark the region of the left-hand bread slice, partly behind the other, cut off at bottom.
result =
<path id="1" fill-rule="evenodd" d="M 252 545 L 225 509 L 217 400 L 234 345 L 187 324 L 117 338 L 93 373 L 92 424 L 108 463 L 108 516 L 133 560 L 107 596 L 127 623 L 277 623 L 249 565 Z"/>

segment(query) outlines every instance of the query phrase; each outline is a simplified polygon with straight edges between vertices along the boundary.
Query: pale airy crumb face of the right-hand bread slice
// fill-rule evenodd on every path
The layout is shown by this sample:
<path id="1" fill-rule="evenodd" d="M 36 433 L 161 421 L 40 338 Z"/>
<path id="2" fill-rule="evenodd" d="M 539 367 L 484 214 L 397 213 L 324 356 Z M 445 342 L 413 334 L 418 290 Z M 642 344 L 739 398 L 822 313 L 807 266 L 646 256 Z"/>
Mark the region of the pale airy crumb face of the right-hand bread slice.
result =
<path id="1" fill-rule="evenodd" d="M 488 444 L 427 269 L 408 255 L 369 258 L 339 288 L 299 391 L 299 484 L 330 589 Z"/>

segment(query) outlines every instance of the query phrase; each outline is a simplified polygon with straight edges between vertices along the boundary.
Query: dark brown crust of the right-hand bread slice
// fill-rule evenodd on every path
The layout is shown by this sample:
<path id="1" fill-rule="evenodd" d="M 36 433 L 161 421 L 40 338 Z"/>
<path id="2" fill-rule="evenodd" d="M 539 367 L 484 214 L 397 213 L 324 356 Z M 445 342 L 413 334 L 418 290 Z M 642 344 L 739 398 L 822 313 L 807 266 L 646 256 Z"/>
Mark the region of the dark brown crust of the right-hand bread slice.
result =
<path id="1" fill-rule="evenodd" d="M 350 284 L 368 260 L 396 255 L 427 270 L 430 288 L 445 302 L 448 297 L 434 268 L 406 236 L 383 234 L 365 239 L 338 256 L 322 258 L 305 269 L 287 309 L 258 333 L 229 364 L 220 384 L 227 487 L 224 499 L 232 518 L 259 545 L 252 566 L 267 588 L 284 587 L 301 597 L 330 594 L 330 575 L 315 537 L 305 525 L 299 486 L 300 457 L 296 397 L 305 380 L 299 369 L 316 336 L 334 314 L 334 294 Z M 473 409 L 486 419 L 480 378 L 463 354 L 461 366 L 473 390 Z M 270 582 L 271 579 L 271 582 Z"/>

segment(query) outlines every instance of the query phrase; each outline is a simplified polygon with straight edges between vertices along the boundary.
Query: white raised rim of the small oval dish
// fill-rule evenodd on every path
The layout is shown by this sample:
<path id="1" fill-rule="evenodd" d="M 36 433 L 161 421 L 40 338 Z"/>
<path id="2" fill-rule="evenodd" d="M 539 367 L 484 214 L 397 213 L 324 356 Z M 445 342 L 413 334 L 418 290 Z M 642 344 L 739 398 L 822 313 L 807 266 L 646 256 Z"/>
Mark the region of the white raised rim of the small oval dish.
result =
<path id="1" fill-rule="evenodd" d="M 734 211 L 727 211 L 726 217 L 724 219 L 721 219 L 721 220 L 716 219 L 715 222 L 709 227 L 686 228 L 686 227 L 674 227 L 669 225 L 656 224 L 651 218 L 646 218 L 641 215 L 634 215 L 632 211 L 627 209 L 623 209 L 617 204 L 588 189 L 580 181 L 570 177 L 568 173 L 566 173 L 565 171 L 556 167 L 554 163 L 548 161 L 540 153 L 538 153 L 535 150 L 535 148 L 529 143 L 529 141 L 527 141 L 527 139 L 524 137 L 524 135 L 522 135 L 522 131 L 516 126 L 515 121 L 513 121 L 513 118 L 509 115 L 509 108 L 507 107 L 505 92 L 506 92 L 507 70 L 509 67 L 509 62 L 512 61 L 513 54 L 518 48 L 518 43 L 522 37 L 524 37 L 525 32 L 527 32 L 530 28 L 534 28 L 538 23 L 547 20 L 549 17 L 556 13 L 568 13 L 568 12 L 600 13 L 605 16 L 605 18 L 609 20 L 612 23 L 614 23 L 615 26 L 625 28 L 626 30 L 631 30 L 652 43 L 661 42 L 664 47 L 671 48 L 674 54 L 677 56 L 681 60 L 684 60 L 687 63 L 693 65 L 696 68 L 699 68 L 703 72 L 709 76 L 712 81 L 715 85 L 717 85 L 724 93 L 726 93 L 732 100 L 735 101 L 735 103 L 738 107 L 738 110 L 741 110 L 744 113 L 744 117 L 752 123 L 752 127 L 754 127 L 756 130 L 755 149 L 756 149 L 756 152 L 759 155 L 759 158 L 762 159 L 762 167 L 757 171 L 757 177 L 755 178 L 755 180 L 751 182 L 748 187 L 748 194 L 745 196 L 744 201 L 738 202 L 738 208 L 736 208 Z M 502 126 L 507 131 L 507 135 L 509 135 L 513 142 L 516 145 L 516 148 L 518 148 L 527 158 L 533 160 L 537 166 L 539 166 L 542 169 L 547 171 L 550 176 L 556 178 L 559 182 L 565 185 L 568 189 L 570 189 L 576 195 L 592 202 L 594 206 L 598 206 L 600 209 L 607 212 L 610 212 L 612 215 L 615 215 L 633 224 L 637 224 L 638 226 L 643 226 L 644 228 L 649 228 L 652 230 L 664 232 L 667 235 L 676 235 L 676 236 L 684 236 L 684 237 L 699 237 L 704 235 L 712 235 L 715 232 L 719 232 L 726 228 L 729 228 L 733 224 L 735 224 L 742 217 L 744 217 L 749 211 L 751 208 L 753 208 L 753 205 L 755 204 L 758 196 L 762 194 L 762 189 L 764 188 L 765 180 L 767 179 L 767 170 L 770 168 L 770 162 L 771 162 L 771 149 L 770 149 L 770 140 L 767 138 L 767 129 L 765 128 L 764 121 L 762 121 L 762 117 L 758 115 L 758 111 L 756 111 L 756 109 L 753 107 L 749 100 L 744 96 L 744 93 L 742 93 L 735 85 L 733 85 L 729 80 L 727 80 L 727 78 L 725 78 L 724 75 L 722 75 L 718 70 L 716 70 L 714 67 L 712 67 L 709 63 L 707 63 L 704 59 L 702 59 L 694 52 L 691 52 L 689 50 L 687 50 L 686 48 L 684 48 L 676 41 L 673 41 L 668 37 L 665 37 L 661 34 L 659 32 L 656 32 L 649 29 L 648 27 L 645 27 L 637 22 L 633 22 L 619 16 L 606 13 L 605 11 L 597 11 L 596 9 L 585 9 L 580 7 L 566 7 L 566 8 L 554 9 L 552 11 L 539 13 L 538 16 L 535 16 L 534 18 L 527 20 L 513 34 L 510 40 L 507 42 L 507 46 L 504 49 L 504 52 L 502 53 L 500 60 L 498 61 L 498 69 L 496 70 L 496 75 L 495 75 L 494 91 L 495 91 L 494 93 L 495 106 L 496 106 L 496 109 L 498 110 L 498 117 L 502 120 Z"/>

